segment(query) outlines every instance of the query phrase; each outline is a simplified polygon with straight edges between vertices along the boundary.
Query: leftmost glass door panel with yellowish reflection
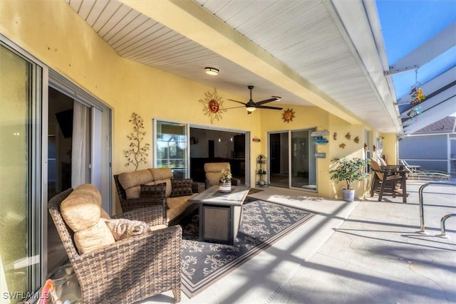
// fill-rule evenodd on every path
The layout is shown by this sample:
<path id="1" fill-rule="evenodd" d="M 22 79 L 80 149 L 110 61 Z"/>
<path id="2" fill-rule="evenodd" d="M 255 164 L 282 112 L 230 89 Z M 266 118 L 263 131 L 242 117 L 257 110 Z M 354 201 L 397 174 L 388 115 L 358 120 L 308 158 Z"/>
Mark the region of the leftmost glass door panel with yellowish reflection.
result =
<path id="1" fill-rule="evenodd" d="M 0 46 L 0 287 L 8 303 L 40 285 L 38 78 L 41 68 Z"/>

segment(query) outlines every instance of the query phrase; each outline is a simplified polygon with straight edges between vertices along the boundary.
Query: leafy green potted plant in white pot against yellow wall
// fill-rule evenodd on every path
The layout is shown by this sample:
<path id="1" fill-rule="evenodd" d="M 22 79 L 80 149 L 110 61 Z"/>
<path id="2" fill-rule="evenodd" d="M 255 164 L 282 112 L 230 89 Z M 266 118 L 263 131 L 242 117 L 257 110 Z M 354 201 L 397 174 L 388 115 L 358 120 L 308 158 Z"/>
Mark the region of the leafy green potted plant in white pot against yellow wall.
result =
<path id="1" fill-rule="evenodd" d="M 331 179 L 338 182 L 345 181 L 347 187 L 342 189 L 342 198 L 344 201 L 353 201 L 355 199 L 355 189 L 351 187 L 353 182 L 361 182 L 368 177 L 364 168 L 368 165 L 368 159 L 354 157 L 352 159 L 342 158 L 333 159 L 333 164 L 329 170 Z"/>

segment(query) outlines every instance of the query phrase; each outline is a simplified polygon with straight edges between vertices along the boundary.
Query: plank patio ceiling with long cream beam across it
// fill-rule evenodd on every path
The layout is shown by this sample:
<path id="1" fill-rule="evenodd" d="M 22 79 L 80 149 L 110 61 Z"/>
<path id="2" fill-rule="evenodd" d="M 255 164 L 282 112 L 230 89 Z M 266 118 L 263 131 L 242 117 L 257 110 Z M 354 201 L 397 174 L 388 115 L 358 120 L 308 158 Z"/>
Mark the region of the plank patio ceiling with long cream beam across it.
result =
<path id="1" fill-rule="evenodd" d="M 255 85 L 254 100 L 279 95 L 282 100 L 270 105 L 317 105 L 379 132 L 403 132 L 392 85 L 383 75 L 388 65 L 378 51 L 375 4 L 64 1 L 124 58 L 226 90 L 242 101 L 249 97 L 247 85 Z M 186 19 L 180 22 L 163 11 Z M 208 38 L 188 31 L 193 24 L 218 34 Z M 229 50 L 217 49 L 215 43 L 227 39 Z M 237 59 L 243 54 L 256 60 Z M 211 77 L 203 73 L 206 66 L 221 73 Z"/>

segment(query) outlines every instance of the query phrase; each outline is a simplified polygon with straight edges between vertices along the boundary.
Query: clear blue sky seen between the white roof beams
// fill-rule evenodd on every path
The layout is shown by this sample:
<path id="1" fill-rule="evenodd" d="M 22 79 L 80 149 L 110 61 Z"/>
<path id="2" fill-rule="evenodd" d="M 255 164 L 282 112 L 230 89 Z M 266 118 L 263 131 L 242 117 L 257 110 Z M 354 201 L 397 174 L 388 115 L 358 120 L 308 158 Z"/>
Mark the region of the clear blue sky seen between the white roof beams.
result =
<path id="1" fill-rule="evenodd" d="M 456 22 L 456 0 L 377 0 L 375 4 L 389 65 Z M 408 95 L 417 81 L 424 84 L 455 65 L 453 46 L 418 68 L 417 73 L 394 74 L 396 99 Z"/>

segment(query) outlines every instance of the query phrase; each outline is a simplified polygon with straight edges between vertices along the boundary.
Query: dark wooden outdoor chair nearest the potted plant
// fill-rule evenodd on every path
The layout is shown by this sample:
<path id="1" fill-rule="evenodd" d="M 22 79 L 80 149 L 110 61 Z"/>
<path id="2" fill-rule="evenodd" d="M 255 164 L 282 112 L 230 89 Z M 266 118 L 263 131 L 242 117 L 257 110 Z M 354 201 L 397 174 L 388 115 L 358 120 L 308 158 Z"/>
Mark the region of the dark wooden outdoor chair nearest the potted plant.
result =
<path id="1" fill-rule="evenodd" d="M 371 169 L 373 170 L 371 197 L 376 193 L 378 201 L 381 201 L 383 196 L 396 197 L 402 192 L 403 202 L 407 202 L 405 170 L 383 169 L 373 159 L 371 159 Z"/>

